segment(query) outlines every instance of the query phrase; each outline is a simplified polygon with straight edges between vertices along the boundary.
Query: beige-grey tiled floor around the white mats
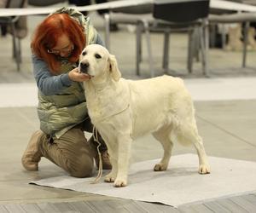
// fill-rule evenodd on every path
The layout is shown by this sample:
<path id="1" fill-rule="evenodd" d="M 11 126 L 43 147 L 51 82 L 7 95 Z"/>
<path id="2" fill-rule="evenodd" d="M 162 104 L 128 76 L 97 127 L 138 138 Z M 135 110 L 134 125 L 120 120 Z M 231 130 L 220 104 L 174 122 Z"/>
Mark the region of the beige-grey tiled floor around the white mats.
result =
<path id="1" fill-rule="evenodd" d="M 96 14 L 92 14 L 92 17 L 96 28 L 99 32 L 102 32 L 102 19 L 97 17 Z M 34 26 L 42 18 L 42 16 L 29 18 L 30 34 L 22 41 L 23 62 L 19 73 L 15 71 L 15 63 L 11 60 L 11 37 L 0 37 L 2 49 L 0 52 L 0 83 L 18 83 L 17 87 L 19 87 L 19 83 L 33 82 L 29 41 Z M 162 37 L 159 34 L 155 33 L 152 36 L 155 66 L 159 74 L 162 73 L 159 68 L 162 52 L 161 41 Z M 126 78 L 137 78 L 134 75 L 135 35 L 127 32 L 126 28 L 123 27 L 119 32 L 112 34 L 111 43 L 111 52 L 119 60 L 119 67 L 123 75 Z M 172 35 L 170 54 L 172 70 L 176 70 L 176 74 L 182 75 L 184 78 L 203 78 L 201 76 L 200 63 L 195 63 L 195 72 L 192 75 L 185 75 L 186 46 L 186 35 Z M 221 49 L 211 49 L 210 68 L 212 78 L 255 77 L 255 56 L 256 51 L 249 52 L 247 62 L 248 66 L 255 67 L 255 69 L 240 69 L 241 52 L 224 52 Z M 143 57 L 145 59 L 145 53 L 143 53 Z M 141 78 L 148 77 L 148 66 L 146 62 L 143 62 Z M 217 88 L 216 92 L 221 93 L 222 91 Z M 2 100 L 1 97 L 0 100 Z M 255 108 L 256 100 L 195 101 L 197 123 L 201 136 L 204 138 L 207 153 L 223 158 L 256 161 Z M 232 208 L 236 208 L 232 212 L 246 212 L 246 209 L 248 212 L 256 210 L 255 193 L 230 199 L 216 199 L 204 204 L 184 205 L 178 210 L 174 210 L 172 207 L 162 206 L 161 208 L 156 204 L 151 204 L 152 206 L 150 206 L 150 204 L 147 205 L 146 203 L 132 203 L 123 199 L 108 198 L 89 193 L 28 185 L 29 181 L 57 176 L 63 171 L 44 158 L 40 163 L 40 170 L 37 172 L 26 172 L 21 167 L 20 156 L 26 147 L 27 140 L 33 130 L 38 130 L 36 107 L 2 107 L 0 108 L 0 118 L 0 212 L 8 212 L 5 210 L 10 212 L 22 212 L 22 210 L 36 212 L 35 208 L 37 210 L 39 208 L 38 211 L 43 210 L 44 212 L 68 212 L 68 210 L 72 212 L 73 206 L 76 206 L 77 209 L 81 206 L 85 208 L 84 202 L 92 210 L 91 212 L 110 212 L 110 210 L 112 210 L 111 212 L 157 212 L 154 208 L 159 211 L 162 210 L 162 212 L 226 212 L 231 211 Z M 142 140 L 143 144 L 136 145 L 134 160 L 159 158 L 161 151 L 158 147 L 155 147 L 151 138 L 146 136 Z M 173 154 L 192 152 L 194 152 L 192 147 L 177 145 L 174 147 Z M 62 204 L 55 204 L 56 202 Z M 67 204 L 67 202 L 69 203 Z M 69 207 L 65 207 L 65 204 Z M 114 207 L 115 204 L 120 204 L 122 207 Z M 63 210 L 62 205 L 64 205 L 66 211 Z M 105 211 L 101 209 L 102 205 L 108 205 L 105 209 L 103 208 Z"/>

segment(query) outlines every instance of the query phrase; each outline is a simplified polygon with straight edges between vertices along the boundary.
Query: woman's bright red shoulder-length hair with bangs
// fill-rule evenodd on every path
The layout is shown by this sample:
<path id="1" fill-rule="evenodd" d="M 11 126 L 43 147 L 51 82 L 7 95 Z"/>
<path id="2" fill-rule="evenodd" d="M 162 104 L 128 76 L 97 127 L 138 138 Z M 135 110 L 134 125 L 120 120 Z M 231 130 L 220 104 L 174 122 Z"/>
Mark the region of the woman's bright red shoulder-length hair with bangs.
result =
<path id="1" fill-rule="evenodd" d="M 68 61 L 77 62 L 85 46 L 84 27 L 68 14 L 49 15 L 38 26 L 32 38 L 33 54 L 43 59 L 49 65 L 50 72 L 53 74 L 60 72 L 61 61 L 57 59 L 57 55 L 49 54 L 47 50 L 54 48 L 58 38 L 63 34 L 67 35 L 74 47 Z"/>

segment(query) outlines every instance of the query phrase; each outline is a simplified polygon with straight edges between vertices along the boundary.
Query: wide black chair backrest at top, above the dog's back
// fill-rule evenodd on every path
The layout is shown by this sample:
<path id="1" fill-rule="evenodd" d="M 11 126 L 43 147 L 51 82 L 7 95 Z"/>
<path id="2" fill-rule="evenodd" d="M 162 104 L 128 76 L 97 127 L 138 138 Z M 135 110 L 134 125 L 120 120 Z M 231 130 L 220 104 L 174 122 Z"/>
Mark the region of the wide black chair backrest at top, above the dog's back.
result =
<path id="1" fill-rule="evenodd" d="M 190 22 L 206 18 L 210 0 L 154 0 L 153 15 L 160 20 Z"/>

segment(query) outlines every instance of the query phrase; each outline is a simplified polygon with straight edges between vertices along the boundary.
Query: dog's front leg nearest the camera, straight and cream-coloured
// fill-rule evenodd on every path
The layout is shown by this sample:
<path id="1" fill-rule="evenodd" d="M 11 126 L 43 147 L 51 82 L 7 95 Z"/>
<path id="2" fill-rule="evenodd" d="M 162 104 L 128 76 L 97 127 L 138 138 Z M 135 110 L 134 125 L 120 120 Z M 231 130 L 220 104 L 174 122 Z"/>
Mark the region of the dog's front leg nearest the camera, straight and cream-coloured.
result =
<path id="1" fill-rule="evenodd" d="M 130 135 L 122 135 L 118 139 L 118 174 L 113 183 L 114 187 L 125 187 L 127 185 L 129 161 L 131 156 L 131 141 Z"/>

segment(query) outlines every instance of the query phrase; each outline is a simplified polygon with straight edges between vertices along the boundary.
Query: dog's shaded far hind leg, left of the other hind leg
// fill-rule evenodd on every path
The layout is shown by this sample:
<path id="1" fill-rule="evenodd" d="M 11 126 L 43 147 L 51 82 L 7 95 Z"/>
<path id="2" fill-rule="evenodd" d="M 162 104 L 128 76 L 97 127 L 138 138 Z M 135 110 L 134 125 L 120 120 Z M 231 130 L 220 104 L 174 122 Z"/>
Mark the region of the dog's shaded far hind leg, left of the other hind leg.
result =
<path id="1" fill-rule="evenodd" d="M 167 170 L 170 158 L 172 156 L 173 143 L 171 140 L 171 128 L 162 128 L 152 134 L 164 148 L 164 155 L 159 164 L 154 165 L 155 171 Z"/>

